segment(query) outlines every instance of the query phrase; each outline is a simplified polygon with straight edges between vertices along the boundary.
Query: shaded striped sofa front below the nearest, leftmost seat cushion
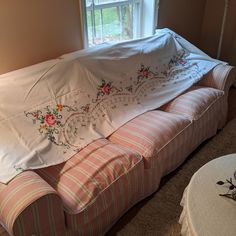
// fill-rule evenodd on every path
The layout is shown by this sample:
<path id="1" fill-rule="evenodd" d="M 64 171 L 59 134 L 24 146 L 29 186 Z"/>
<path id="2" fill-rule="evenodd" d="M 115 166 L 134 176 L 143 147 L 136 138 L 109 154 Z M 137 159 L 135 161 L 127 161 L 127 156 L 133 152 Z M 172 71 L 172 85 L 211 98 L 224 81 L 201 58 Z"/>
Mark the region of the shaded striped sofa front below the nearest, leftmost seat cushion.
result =
<path id="1" fill-rule="evenodd" d="M 65 213 L 67 228 L 71 230 L 69 235 L 104 235 L 119 217 L 147 196 L 145 185 L 143 162 L 140 161 L 109 185 L 84 211 Z"/>

